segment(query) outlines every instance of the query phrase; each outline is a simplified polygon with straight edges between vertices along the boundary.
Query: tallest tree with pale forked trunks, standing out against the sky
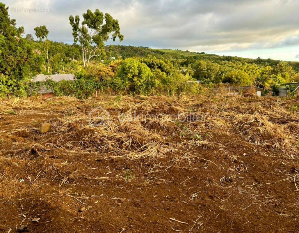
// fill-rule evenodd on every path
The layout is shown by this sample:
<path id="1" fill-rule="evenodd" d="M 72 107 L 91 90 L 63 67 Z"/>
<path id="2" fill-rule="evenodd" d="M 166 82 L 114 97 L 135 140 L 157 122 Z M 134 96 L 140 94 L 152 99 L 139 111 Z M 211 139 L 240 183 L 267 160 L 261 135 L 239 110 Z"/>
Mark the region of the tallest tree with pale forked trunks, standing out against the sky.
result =
<path id="1" fill-rule="evenodd" d="M 103 24 L 104 18 L 105 24 Z M 123 35 L 120 34 L 118 20 L 113 19 L 108 13 L 104 16 L 98 9 L 94 12 L 87 10 L 87 13 L 83 13 L 83 19 L 80 25 L 78 15 L 75 18 L 72 15 L 69 17 L 74 42 L 79 42 L 82 49 L 83 66 L 88 67 L 90 59 L 97 56 L 99 49 L 104 47 L 104 42 L 109 39 L 115 41 L 117 37 L 122 41 Z"/>

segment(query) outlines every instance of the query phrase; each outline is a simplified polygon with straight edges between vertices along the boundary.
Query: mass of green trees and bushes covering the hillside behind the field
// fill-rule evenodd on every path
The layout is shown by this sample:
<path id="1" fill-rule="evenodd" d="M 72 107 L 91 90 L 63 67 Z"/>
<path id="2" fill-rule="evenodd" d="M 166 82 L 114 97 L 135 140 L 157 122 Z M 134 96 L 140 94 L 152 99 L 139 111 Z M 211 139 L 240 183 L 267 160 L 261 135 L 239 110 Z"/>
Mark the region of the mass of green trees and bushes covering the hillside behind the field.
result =
<path id="1" fill-rule="evenodd" d="M 10 19 L 0 3 L 0 98 L 35 95 L 41 86 L 55 95 L 87 98 L 96 91 L 117 94 L 198 93 L 216 84 L 255 85 L 277 93 L 277 83 L 299 81 L 299 63 L 271 59 L 248 59 L 148 47 L 108 45 L 119 38 L 118 20 L 99 10 L 70 16 L 74 44 L 48 39 L 45 25 L 25 38 L 23 27 Z M 39 73 L 74 73 L 76 81 L 46 80 L 31 83 Z M 188 83 L 199 80 L 203 85 Z"/>

